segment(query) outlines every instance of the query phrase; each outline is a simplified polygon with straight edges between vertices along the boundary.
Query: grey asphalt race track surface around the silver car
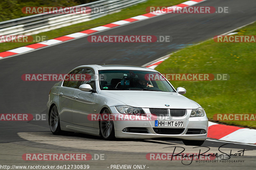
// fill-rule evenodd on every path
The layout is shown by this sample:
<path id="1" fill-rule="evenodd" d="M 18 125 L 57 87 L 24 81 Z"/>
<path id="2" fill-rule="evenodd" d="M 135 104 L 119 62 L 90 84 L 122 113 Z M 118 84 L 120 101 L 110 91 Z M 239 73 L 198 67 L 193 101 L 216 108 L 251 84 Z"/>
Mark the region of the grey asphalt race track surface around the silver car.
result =
<path id="1" fill-rule="evenodd" d="M 21 54 L 11 58 L 0 60 L 0 103 L 1 113 L 30 113 L 45 114 L 48 93 L 55 82 L 26 82 L 21 80 L 22 74 L 65 74 L 72 68 L 84 64 L 125 64 L 141 66 L 149 61 L 155 60 L 161 56 L 169 54 L 189 44 L 195 44 L 200 41 L 220 35 L 242 25 L 256 20 L 256 3 L 254 0 L 207 0 L 196 6 L 218 6 L 229 7 L 229 13 L 213 14 L 166 14 L 153 17 L 147 20 L 134 22 L 129 25 L 116 27 L 95 35 L 170 35 L 173 40 L 171 43 L 89 43 L 87 37 L 71 40 L 55 46 L 42 48 L 30 53 Z M 217 49 L 216 49 L 217 50 Z M 37 164 L 42 162 L 23 161 L 23 153 L 53 153 L 53 152 L 90 152 L 106 153 L 105 161 L 88 161 L 92 169 L 109 169 L 110 164 L 147 164 L 147 169 L 170 169 L 180 167 L 182 169 L 200 168 L 223 168 L 225 169 L 254 169 L 255 151 L 249 152 L 247 156 L 235 159 L 245 160 L 244 163 L 193 163 L 190 166 L 183 166 L 180 162 L 169 161 L 149 161 L 145 158 L 145 153 L 150 152 L 161 141 L 153 141 L 155 145 L 145 147 L 140 144 L 139 152 L 129 152 L 138 141 L 122 141 L 123 149 L 120 144 L 119 151 L 109 151 L 111 147 L 108 142 L 99 138 L 71 134 L 72 138 L 80 138 L 80 144 L 86 146 L 86 140 L 95 139 L 98 145 L 103 145 L 101 150 L 92 150 L 87 148 L 78 149 L 68 144 L 68 140 L 73 140 L 68 136 L 62 137 L 59 145 L 55 144 L 49 136 L 49 128 L 46 121 L 30 122 L 0 122 L 0 164 Z M 17 133 L 23 134 L 20 137 Z M 27 138 L 30 133 L 36 133 L 33 138 Z M 41 135 L 42 134 L 42 135 Z M 74 137 L 75 135 L 75 137 Z M 25 137 L 24 137 L 25 136 Z M 29 135 L 28 135 L 29 136 Z M 40 143 L 50 138 L 50 143 Z M 31 137 L 31 135 L 30 135 Z M 60 136 L 61 137 L 61 136 Z M 60 138 L 53 136 L 52 138 Z M 75 140 L 75 139 L 74 139 Z M 148 144 L 148 141 L 139 141 Z M 159 144 L 157 147 L 167 147 L 164 145 L 179 145 L 186 149 L 180 142 Z M 54 145 L 55 144 L 55 145 Z M 60 145 L 67 144 L 67 145 Z M 216 149 L 222 143 L 215 141 L 206 141 L 204 146 Z M 88 145 L 87 145 L 88 146 Z M 255 146 L 234 144 L 231 148 L 256 149 Z M 162 152 L 162 148 L 159 152 Z M 108 160 L 108 161 L 107 161 Z M 62 162 L 61 162 L 62 163 Z M 77 162 L 76 162 L 77 163 Z M 57 162 L 44 162 L 44 164 L 57 164 Z M 71 162 L 64 161 L 64 164 Z M 80 163 L 81 164 L 81 163 Z"/>

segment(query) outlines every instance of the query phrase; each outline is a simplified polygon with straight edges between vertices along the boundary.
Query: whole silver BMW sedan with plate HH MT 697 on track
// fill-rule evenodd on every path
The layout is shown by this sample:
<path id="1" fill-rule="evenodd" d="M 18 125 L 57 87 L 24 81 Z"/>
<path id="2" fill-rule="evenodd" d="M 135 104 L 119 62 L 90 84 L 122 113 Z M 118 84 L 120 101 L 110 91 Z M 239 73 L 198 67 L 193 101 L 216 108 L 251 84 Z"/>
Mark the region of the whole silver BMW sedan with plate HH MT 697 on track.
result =
<path id="1" fill-rule="evenodd" d="M 53 134 L 170 138 L 199 146 L 207 138 L 208 119 L 185 93 L 151 68 L 83 65 L 52 87 L 48 121 Z"/>

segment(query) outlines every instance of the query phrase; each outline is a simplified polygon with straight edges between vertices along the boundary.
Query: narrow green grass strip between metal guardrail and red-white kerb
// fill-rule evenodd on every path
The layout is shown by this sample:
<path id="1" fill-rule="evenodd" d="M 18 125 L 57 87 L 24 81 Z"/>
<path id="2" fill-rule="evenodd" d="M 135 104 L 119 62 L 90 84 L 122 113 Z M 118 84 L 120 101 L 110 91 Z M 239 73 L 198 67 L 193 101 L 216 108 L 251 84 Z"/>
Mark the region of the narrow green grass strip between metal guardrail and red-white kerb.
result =
<path id="1" fill-rule="evenodd" d="M 38 36 L 47 36 L 49 39 L 61 37 L 67 34 L 75 33 L 84 31 L 90 28 L 94 28 L 97 26 L 109 24 L 115 21 L 131 18 L 137 15 L 145 14 L 147 13 L 146 8 L 148 6 L 172 6 L 176 4 L 180 4 L 184 2 L 184 0 L 149 0 L 144 3 L 140 3 L 137 5 L 133 5 L 131 7 L 125 8 L 120 12 L 110 14 L 101 18 L 97 18 L 91 21 L 70 25 L 67 27 L 63 27 L 60 29 L 48 31 L 48 32 L 42 32 L 39 34 L 36 34 Z M 4 52 L 7 50 L 11 50 L 14 48 L 18 48 L 21 46 L 27 46 L 29 44 L 34 44 L 34 42 L 28 42 L 28 43 L 1 43 L 0 46 L 0 52 Z"/>

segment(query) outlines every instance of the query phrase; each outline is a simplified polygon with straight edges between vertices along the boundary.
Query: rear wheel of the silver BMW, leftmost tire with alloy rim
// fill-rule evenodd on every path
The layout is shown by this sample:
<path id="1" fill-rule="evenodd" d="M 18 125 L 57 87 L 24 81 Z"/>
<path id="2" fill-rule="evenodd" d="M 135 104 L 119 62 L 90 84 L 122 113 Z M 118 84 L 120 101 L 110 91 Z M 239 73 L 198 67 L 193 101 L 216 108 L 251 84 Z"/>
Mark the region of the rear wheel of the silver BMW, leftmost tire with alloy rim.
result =
<path id="1" fill-rule="evenodd" d="M 52 131 L 52 134 L 54 135 L 60 135 L 62 134 L 62 131 L 60 129 L 60 117 L 59 117 L 59 112 L 57 109 L 57 106 L 54 105 L 52 107 L 52 110 L 50 112 L 50 116 L 49 116 L 49 125 L 50 125 L 50 129 Z"/>

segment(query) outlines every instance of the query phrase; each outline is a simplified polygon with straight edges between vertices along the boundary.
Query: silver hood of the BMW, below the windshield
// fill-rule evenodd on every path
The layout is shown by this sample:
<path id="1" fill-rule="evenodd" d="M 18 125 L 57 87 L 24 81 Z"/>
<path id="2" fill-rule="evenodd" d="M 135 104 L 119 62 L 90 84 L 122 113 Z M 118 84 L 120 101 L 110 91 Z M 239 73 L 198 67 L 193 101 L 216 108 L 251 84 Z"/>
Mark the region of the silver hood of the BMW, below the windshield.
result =
<path id="1" fill-rule="evenodd" d="M 196 102 L 179 93 L 140 90 L 101 90 L 100 95 L 108 96 L 128 106 L 141 108 L 184 108 L 197 109 Z M 167 107 L 165 104 L 169 104 Z"/>

